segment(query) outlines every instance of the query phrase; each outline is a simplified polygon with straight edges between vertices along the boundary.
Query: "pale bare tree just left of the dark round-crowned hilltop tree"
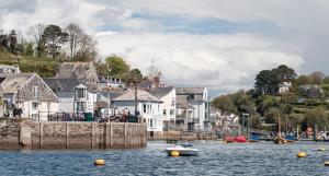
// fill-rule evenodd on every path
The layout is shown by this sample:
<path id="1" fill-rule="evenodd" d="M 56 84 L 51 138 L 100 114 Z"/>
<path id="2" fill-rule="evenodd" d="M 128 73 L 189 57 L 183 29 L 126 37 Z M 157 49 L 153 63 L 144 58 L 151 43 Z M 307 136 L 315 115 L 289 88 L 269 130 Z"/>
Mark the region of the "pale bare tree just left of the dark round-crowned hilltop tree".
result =
<path id="1" fill-rule="evenodd" d="M 35 24 L 33 26 L 30 26 L 27 30 L 27 35 L 32 35 L 34 37 L 36 44 L 35 50 L 38 57 L 41 57 L 45 51 L 45 44 L 42 40 L 44 31 L 45 31 L 44 24 Z"/>

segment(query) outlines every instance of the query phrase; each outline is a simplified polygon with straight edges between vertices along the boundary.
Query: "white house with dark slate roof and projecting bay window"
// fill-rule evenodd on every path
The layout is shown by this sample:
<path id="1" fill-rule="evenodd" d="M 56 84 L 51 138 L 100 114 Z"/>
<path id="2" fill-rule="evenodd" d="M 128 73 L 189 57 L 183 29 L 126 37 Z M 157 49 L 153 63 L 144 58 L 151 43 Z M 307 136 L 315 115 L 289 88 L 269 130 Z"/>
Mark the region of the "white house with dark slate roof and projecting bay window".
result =
<path id="1" fill-rule="evenodd" d="M 94 113 L 98 91 L 78 79 L 44 79 L 59 98 L 59 113 Z"/>

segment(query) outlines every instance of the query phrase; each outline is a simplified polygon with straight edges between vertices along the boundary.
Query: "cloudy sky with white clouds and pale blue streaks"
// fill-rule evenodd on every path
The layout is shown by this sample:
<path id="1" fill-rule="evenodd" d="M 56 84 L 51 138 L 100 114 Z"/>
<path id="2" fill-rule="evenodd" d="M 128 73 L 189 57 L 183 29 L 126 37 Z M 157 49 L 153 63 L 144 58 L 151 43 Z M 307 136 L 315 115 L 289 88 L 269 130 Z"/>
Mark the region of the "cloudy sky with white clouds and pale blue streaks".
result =
<path id="1" fill-rule="evenodd" d="M 100 57 L 120 55 L 168 84 L 212 95 L 250 89 L 263 69 L 329 73 L 328 0 L 10 0 L 0 28 L 73 22 L 95 36 Z"/>

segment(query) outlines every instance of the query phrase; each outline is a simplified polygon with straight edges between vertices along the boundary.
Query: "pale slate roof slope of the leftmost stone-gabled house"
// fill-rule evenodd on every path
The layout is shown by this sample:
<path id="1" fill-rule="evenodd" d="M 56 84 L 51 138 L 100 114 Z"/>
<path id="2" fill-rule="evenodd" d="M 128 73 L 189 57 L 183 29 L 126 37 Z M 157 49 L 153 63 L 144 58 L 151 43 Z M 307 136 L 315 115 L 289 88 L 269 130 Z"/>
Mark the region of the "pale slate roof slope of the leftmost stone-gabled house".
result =
<path id="1" fill-rule="evenodd" d="M 0 74 L 3 93 L 16 93 L 19 87 L 23 87 L 35 73 L 12 73 Z"/>

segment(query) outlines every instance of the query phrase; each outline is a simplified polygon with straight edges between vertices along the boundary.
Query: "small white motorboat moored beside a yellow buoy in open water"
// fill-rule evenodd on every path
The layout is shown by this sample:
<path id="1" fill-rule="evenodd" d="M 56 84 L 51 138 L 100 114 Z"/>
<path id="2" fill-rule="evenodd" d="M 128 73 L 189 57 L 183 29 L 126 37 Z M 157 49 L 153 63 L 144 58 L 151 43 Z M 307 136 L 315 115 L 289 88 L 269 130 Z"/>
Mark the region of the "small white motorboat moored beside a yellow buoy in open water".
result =
<path id="1" fill-rule="evenodd" d="M 196 156 L 197 149 L 184 148 L 181 145 L 169 146 L 166 149 L 168 156 Z"/>

